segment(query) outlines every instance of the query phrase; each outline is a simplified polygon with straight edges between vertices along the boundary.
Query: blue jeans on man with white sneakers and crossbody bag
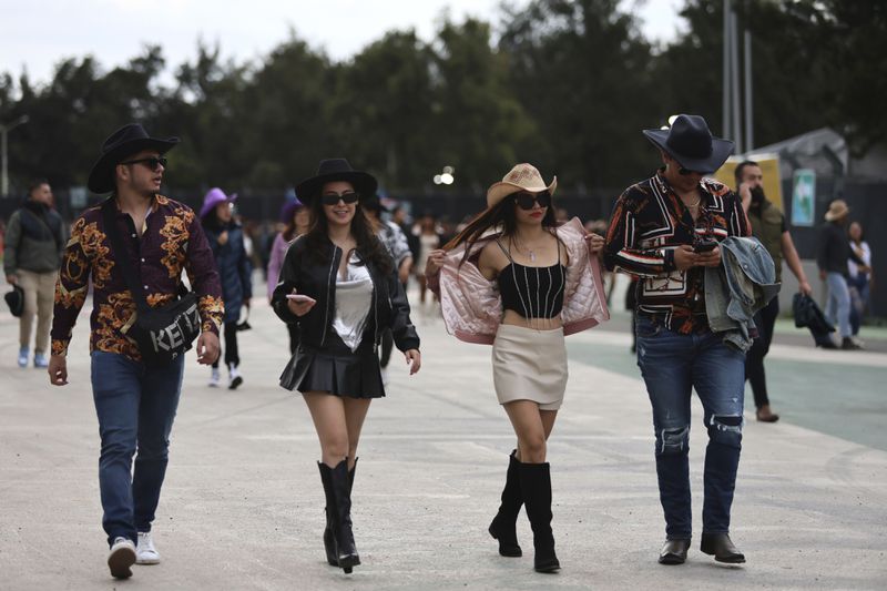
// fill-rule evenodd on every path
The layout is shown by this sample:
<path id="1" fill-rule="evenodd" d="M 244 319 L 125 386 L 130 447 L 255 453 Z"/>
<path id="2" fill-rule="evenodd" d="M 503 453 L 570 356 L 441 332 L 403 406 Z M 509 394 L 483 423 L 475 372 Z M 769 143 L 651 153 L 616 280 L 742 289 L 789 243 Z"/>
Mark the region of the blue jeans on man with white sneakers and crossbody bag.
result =
<path id="1" fill-rule="evenodd" d="M 166 475 L 184 359 L 182 355 L 149 371 L 123 355 L 92 353 L 92 397 L 102 438 L 102 527 L 109 544 L 119 536 L 135 542 L 137 531 L 151 531 Z"/>

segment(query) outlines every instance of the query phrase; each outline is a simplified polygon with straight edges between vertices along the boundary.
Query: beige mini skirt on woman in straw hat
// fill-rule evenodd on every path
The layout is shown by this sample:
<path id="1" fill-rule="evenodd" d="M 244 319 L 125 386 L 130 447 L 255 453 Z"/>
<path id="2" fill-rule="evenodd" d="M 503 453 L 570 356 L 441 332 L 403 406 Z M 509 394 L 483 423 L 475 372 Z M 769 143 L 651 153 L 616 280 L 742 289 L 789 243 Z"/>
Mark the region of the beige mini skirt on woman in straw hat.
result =
<path id="1" fill-rule="evenodd" d="M 500 405 L 532 400 L 542 410 L 558 410 L 567 389 L 563 328 L 500 324 L 492 344 L 492 381 Z"/>

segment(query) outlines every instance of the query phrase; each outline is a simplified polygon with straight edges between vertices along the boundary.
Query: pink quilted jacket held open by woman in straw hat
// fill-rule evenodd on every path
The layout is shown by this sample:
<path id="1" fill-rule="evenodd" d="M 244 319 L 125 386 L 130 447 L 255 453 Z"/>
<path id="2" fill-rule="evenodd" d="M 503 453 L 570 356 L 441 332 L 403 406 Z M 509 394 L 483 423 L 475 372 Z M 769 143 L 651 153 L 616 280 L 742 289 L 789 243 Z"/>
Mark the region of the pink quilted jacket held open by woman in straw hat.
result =
<path id="1" fill-rule="evenodd" d="M 558 236 L 567 245 L 570 263 L 567 266 L 567 287 L 563 296 L 564 335 L 572 335 L 610 319 L 601 279 L 601 265 L 589 253 L 585 231 L 579 218 L 558 227 Z M 489 236 L 478 241 L 475 253 Z M 497 283 L 480 274 L 476 259 L 469 258 L 459 268 L 465 245 L 447 253 L 443 266 L 436 277 L 429 277 L 429 287 L 440 295 L 443 324 L 447 332 L 459 340 L 492 345 L 502 319 L 502 302 Z"/>

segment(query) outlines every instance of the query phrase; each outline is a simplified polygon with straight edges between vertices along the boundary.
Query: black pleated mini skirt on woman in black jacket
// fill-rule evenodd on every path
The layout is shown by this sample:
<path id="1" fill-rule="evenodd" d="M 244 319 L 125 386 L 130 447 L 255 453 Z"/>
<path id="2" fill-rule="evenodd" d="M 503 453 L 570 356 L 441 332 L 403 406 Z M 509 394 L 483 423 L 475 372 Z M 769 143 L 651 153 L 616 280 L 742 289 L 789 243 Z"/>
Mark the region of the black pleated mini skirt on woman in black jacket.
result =
<path id="1" fill-rule="evenodd" d="M 281 375 L 281 386 L 287 390 L 328 393 L 348 398 L 381 398 L 379 357 L 373 338 L 367 337 L 353 351 L 333 332 L 323 348 L 299 345 Z"/>

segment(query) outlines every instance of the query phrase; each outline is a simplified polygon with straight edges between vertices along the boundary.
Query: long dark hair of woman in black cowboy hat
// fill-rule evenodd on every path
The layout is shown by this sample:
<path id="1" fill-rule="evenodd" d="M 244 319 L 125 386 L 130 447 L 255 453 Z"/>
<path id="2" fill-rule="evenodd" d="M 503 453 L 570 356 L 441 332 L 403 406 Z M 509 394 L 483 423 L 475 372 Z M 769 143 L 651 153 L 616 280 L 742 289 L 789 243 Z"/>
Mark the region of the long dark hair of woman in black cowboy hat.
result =
<path id="1" fill-rule="evenodd" d="M 313 195 L 310 201 L 310 230 L 305 235 L 307 251 L 319 263 L 328 264 L 329 256 L 329 223 L 324 212 L 320 195 Z M 373 263 L 384 275 L 394 271 L 394 262 L 385 245 L 376 237 L 373 226 L 367 220 L 364 208 L 358 201 L 351 220 L 351 236 L 357 243 L 357 254 L 364 263 Z M 347 255 L 347 253 L 346 253 Z"/>

